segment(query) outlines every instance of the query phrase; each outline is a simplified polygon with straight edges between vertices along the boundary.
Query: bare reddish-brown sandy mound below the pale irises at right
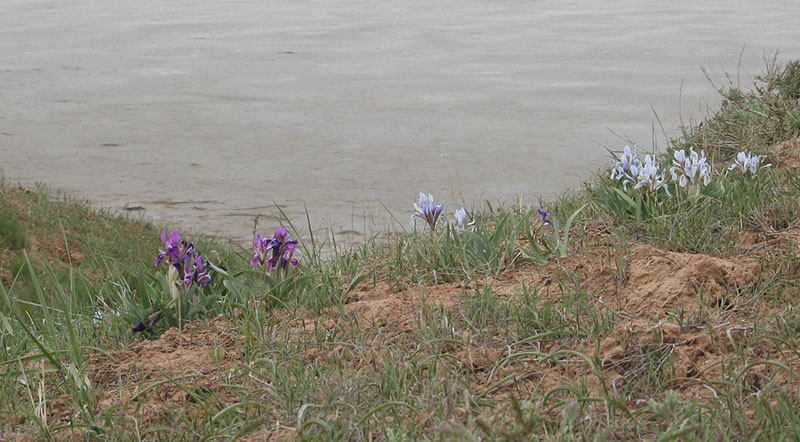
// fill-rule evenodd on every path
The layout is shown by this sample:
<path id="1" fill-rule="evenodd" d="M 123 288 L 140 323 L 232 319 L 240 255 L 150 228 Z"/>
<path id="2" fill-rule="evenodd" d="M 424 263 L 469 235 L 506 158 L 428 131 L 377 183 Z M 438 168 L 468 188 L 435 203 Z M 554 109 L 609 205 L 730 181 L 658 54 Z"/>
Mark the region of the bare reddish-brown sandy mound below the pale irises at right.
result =
<path id="1" fill-rule="evenodd" d="M 730 303 L 738 287 L 758 280 L 758 263 L 750 258 L 718 258 L 636 246 L 628 266 L 619 307 L 641 317 L 663 317 L 667 311 L 698 310 Z"/>

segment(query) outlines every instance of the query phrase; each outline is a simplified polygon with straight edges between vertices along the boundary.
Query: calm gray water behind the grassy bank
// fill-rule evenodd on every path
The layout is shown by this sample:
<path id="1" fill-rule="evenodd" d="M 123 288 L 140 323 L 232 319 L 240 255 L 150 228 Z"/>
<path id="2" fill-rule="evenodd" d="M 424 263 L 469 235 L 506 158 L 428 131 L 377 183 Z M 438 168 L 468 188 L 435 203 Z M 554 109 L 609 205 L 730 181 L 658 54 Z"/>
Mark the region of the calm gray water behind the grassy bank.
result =
<path id="1" fill-rule="evenodd" d="M 0 0 L 0 168 L 174 228 L 535 203 L 800 57 L 800 2 Z M 388 211 L 387 211 L 388 209 Z"/>

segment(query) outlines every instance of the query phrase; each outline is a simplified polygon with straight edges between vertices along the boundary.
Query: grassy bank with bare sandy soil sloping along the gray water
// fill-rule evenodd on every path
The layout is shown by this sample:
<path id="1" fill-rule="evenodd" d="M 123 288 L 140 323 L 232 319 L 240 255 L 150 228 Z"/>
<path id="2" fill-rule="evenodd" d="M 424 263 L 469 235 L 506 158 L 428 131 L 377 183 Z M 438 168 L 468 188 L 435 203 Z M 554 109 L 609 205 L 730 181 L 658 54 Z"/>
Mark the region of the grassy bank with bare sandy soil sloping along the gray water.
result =
<path id="1" fill-rule="evenodd" d="M 182 232 L 185 284 L 160 229 L 4 185 L 0 438 L 798 439 L 800 64 L 720 93 L 655 160 L 463 229 L 306 233 L 271 271 Z"/>

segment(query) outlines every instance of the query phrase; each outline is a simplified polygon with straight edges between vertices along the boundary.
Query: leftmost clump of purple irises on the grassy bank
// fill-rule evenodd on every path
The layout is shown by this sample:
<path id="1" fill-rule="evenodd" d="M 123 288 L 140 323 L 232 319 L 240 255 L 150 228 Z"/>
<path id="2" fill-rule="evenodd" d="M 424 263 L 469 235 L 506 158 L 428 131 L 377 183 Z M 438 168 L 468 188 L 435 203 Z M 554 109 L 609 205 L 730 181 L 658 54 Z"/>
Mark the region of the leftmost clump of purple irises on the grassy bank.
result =
<path id="1" fill-rule="evenodd" d="M 167 237 L 167 231 L 163 230 L 161 232 L 161 244 L 164 248 L 158 250 L 156 267 L 166 260 L 170 266 L 177 270 L 187 290 L 192 284 L 202 287 L 211 282 L 208 260 L 204 259 L 203 255 L 195 250 L 194 244 L 181 240 L 181 235 L 177 231 L 173 230 Z"/>

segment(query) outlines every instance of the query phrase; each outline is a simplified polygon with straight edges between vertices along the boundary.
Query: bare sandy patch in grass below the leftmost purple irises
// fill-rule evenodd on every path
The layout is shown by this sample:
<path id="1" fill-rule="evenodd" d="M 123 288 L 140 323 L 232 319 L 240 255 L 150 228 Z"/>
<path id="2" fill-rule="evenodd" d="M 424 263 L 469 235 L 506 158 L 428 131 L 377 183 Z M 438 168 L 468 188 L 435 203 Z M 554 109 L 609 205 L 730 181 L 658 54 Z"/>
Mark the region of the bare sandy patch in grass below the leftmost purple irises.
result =
<path id="1" fill-rule="evenodd" d="M 156 340 L 95 356 L 89 378 L 102 391 L 102 407 L 121 405 L 141 421 L 196 413 L 202 410 L 200 401 L 233 403 L 235 397 L 220 385 L 239 359 L 239 340 L 220 318 L 189 324 L 183 331 L 172 328 Z"/>

